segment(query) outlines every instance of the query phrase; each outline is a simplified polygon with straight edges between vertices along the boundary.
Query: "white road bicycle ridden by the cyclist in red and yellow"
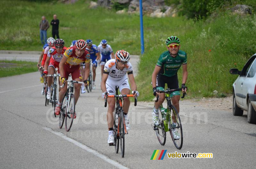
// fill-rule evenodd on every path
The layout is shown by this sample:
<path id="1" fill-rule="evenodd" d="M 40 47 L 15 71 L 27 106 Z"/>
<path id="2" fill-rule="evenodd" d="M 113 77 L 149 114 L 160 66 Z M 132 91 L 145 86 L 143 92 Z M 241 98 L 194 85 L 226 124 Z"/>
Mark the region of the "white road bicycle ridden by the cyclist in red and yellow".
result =
<path id="1" fill-rule="evenodd" d="M 84 82 L 81 81 L 73 81 L 73 80 L 67 80 L 67 82 L 70 82 L 70 85 L 68 85 L 68 89 L 67 92 L 62 100 L 62 105 L 61 105 L 61 109 L 60 109 L 60 122 L 59 122 L 59 127 L 62 128 L 63 123 L 64 123 L 64 119 L 65 119 L 65 129 L 66 131 L 69 131 L 72 123 L 73 123 L 73 119 L 74 119 L 74 112 L 75 111 L 75 95 L 74 95 L 74 83 L 78 83 L 78 84 L 84 84 Z M 62 86 L 60 86 L 61 88 L 64 87 L 65 84 L 63 84 Z"/>

